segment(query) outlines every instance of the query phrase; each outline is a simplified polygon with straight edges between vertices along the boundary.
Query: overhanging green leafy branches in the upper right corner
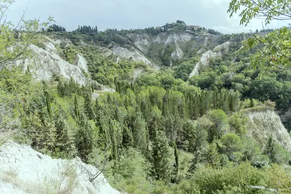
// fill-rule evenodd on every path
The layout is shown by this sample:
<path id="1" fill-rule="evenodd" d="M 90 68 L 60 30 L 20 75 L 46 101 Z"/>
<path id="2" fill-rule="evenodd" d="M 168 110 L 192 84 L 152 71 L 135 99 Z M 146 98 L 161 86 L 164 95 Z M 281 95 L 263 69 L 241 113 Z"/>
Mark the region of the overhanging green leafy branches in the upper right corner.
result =
<path id="1" fill-rule="evenodd" d="M 240 24 L 245 26 L 253 18 L 264 19 L 265 25 L 269 24 L 271 20 L 291 20 L 291 0 L 232 0 L 227 12 L 232 17 L 241 7 L 245 8 L 239 15 Z M 291 70 L 290 40 L 290 28 L 282 27 L 263 36 L 253 35 L 244 42 L 241 50 L 246 51 L 259 47 L 259 51 L 250 58 L 251 68 L 259 68 L 263 71 L 272 68 Z"/>

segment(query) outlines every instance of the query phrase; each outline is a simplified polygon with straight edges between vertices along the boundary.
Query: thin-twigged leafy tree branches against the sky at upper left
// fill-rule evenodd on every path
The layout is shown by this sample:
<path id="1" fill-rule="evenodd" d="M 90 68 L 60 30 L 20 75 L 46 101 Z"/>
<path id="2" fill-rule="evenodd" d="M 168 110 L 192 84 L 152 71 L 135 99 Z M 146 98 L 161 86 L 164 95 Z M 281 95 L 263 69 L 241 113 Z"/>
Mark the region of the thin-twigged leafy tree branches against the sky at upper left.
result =
<path id="1" fill-rule="evenodd" d="M 40 19 L 25 20 L 26 11 L 23 12 L 17 25 L 7 20 L 6 12 L 9 10 L 12 0 L 0 0 L 0 70 L 16 62 L 32 56 L 30 45 L 35 44 L 35 35 L 42 32 L 50 22 Z"/>

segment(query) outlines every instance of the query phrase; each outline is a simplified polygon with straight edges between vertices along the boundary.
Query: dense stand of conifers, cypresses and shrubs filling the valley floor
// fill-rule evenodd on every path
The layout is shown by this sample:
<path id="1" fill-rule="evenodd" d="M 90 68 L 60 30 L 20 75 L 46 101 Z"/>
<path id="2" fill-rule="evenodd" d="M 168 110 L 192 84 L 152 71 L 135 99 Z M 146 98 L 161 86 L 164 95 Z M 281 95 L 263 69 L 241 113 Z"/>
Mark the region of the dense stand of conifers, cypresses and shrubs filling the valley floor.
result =
<path id="1" fill-rule="evenodd" d="M 80 87 L 73 80 L 59 81 L 54 90 L 47 83 L 30 81 L 29 74 L 16 70 L 13 72 L 21 79 L 17 82 L 27 84 L 11 89 L 14 80 L 9 80 L 9 71 L 1 71 L 0 90 L 2 102 L 8 96 L 20 98 L 5 108 L 15 110 L 19 127 L 26 129 L 16 140 L 30 143 L 52 157 L 78 155 L 93 164 L 98 161 L 98 153 L 102 155 L 105 150 L 109 156 L 105 175 L 121 191 L 209 193 L 235 189 L 252 193 L 254 190 L 245 190 L 243 185 L 270 184 L 269 170 L 258 170 L 258 166 L 268 166 L 269 162 L 288 164 L 291 160 L 290 154 L 273 142 L 264 148 L 244 137 L 246 122 L 241 111 L 243 106 L 250 107 L 251 101 L 245 105 L 238 92 L 204 91 L 187 85 L 166 90 L 118 81 L 119 93 L 92 101 L 88 95 L 92 93 L 91 85 Z M 38 88 L 38 92 L 27 93 L 27 87 Z M 233 162 L 244 161 L 249 163 L 241 165 L 255 173 L 245 176 L 258 176 L 255 182 L 235 182 L 224 174 L 227 169 L 240 173 L 240 167 Z M 264 178 L 262 174 L 268 176 Z M 203 185 L 206 183 L 201 180 L 202 175 L 210 179 L 226 176 L 228 183 L 226 187 L 213 181 Z M 186 177 L 190 179 L 179 183 Z M 169 182 L 174 185 L 169 187 Z M 210 182 L 214 185 L 210 186 Z M 192 186 L 186 186 L 189 184 Z"/>

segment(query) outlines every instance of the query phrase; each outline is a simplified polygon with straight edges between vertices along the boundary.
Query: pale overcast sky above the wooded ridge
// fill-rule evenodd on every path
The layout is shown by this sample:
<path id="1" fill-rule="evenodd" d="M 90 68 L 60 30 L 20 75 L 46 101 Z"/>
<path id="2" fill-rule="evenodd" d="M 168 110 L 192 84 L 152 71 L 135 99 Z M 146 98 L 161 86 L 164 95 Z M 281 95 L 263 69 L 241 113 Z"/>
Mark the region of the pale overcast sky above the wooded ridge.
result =
<path id="1" fill-rule="evenodd" d="M 56 24 L 72 31 L 78 25 L 107 28 L 140 29 L 162 26 L 176 20 L 187 25 L 212 28 L 223 33 L 250 32 L 262 29 L 262 20 L 240 26 L 238 16 L 226 13 L 231 0 L 15 0 L 8 19 L 16 21 L 27 7 L 26 19 L 45 20 L 53 16 Z M 267 28 L 287 25 L 272 22 Z"/>

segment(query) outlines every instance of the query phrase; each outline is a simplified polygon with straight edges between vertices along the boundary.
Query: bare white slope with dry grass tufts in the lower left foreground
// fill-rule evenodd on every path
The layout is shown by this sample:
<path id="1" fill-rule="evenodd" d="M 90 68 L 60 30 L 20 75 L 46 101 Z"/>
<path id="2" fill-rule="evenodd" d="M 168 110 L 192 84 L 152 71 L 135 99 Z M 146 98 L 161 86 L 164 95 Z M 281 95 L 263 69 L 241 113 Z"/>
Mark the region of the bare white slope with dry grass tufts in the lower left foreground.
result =
<path id="1" fill-rule="evenodd" d="M 76 157 L 51 159 L 30 146 L 13 142 L 0 146 L 0 194 L 119 194 L 103 174 Z"/>

